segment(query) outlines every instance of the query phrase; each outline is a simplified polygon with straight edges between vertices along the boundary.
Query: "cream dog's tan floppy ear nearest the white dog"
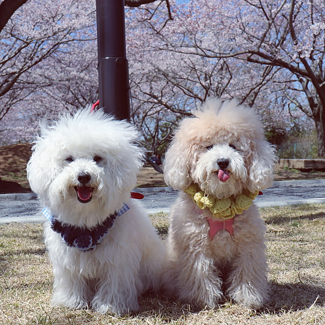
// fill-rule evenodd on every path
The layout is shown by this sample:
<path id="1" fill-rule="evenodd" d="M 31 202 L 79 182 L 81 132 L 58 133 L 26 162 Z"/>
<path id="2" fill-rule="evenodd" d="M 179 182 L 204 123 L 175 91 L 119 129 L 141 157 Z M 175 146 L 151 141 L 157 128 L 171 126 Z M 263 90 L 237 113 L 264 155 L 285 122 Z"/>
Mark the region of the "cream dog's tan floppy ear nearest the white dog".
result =
<path id="1" fill-rule="evenodd" d="M 164 178 L 167 185 L 184 190 L 191 184 L 190 147 L 176 135 L 168 148 L 164 161 Z"/>

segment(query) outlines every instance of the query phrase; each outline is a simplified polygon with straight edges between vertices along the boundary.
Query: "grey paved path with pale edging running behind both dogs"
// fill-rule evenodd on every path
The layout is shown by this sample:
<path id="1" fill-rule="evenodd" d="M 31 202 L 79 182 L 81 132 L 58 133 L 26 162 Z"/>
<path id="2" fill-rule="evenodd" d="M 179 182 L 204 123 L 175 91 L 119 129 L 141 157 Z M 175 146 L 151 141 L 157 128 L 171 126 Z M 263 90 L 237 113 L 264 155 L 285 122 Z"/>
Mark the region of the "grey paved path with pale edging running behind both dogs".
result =
<path id="1" fill-rule="evenodd" d="M 149 213 L 168 212 L 177 197 L 169 187 L 137 188 L 145 195 L 142 203 Z M 325 203 L 325 179 L 274 182 L 255 199 L 259 207 L 283 206 L 300 203 Z M 0 223 L 41 222 L 45 218 L 35 194 L 0 194 Z"/>

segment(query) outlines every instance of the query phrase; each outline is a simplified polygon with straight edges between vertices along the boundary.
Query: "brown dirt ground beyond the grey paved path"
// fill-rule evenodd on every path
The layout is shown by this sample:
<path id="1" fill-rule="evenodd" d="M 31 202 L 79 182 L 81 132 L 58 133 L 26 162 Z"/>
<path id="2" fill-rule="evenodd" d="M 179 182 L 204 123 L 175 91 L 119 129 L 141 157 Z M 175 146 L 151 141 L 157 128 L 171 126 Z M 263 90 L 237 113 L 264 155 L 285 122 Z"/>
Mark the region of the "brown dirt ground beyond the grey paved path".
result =
<path id="1" fill-rule="evenodd" d="M 29 188 L 26 178 L 26 164 L 31 154 L 31 145 L 19 143 L 0 147 L 0 178 L 2 181 L 18 183 L 25 189 Z M 325 178 L 325 171 L 303 172 L 299 170 L 278 169 L 274 180 L 298 180 Z M 6 185 L 0 182 L 0 193 L 14 192 L 15 184 Z M 163 175 L 157 173 L 152 167 L 144 167 L 138 176 L 137 187 L 166 186 Z M 9 188 L 9 189 L 8 189 Z M 17 191 L 21 190 L 17 187 Z"/>

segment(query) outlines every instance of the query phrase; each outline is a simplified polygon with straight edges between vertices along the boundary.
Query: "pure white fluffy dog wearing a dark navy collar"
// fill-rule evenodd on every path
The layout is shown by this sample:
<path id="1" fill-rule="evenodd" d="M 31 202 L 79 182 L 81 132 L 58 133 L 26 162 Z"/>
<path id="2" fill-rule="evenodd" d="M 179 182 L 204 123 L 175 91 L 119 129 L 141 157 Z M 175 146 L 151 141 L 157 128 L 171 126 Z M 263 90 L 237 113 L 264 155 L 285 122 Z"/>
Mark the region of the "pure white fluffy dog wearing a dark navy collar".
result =
<path id="1" fill-rule="evenodd" d="M 89 109 L 42 126 L 27 176 L 50 220 L 54 304 L 123 314 L 157 288 L 165 248 L 130 198 L 142 166 L 138 139 L 129 123 Z"/>

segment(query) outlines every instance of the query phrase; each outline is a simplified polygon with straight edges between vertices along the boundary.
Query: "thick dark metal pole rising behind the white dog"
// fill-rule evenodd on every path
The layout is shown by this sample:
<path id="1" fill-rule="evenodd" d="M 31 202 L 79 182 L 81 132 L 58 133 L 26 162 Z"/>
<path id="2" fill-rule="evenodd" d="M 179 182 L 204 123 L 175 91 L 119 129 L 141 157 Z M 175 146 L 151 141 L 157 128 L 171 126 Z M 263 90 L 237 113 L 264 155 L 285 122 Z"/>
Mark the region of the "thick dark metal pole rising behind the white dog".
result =
<path id="1" fill-rule="evenodd" d="M 100 107 L 130 118 L 124 0 L 96 0 Z"/>

